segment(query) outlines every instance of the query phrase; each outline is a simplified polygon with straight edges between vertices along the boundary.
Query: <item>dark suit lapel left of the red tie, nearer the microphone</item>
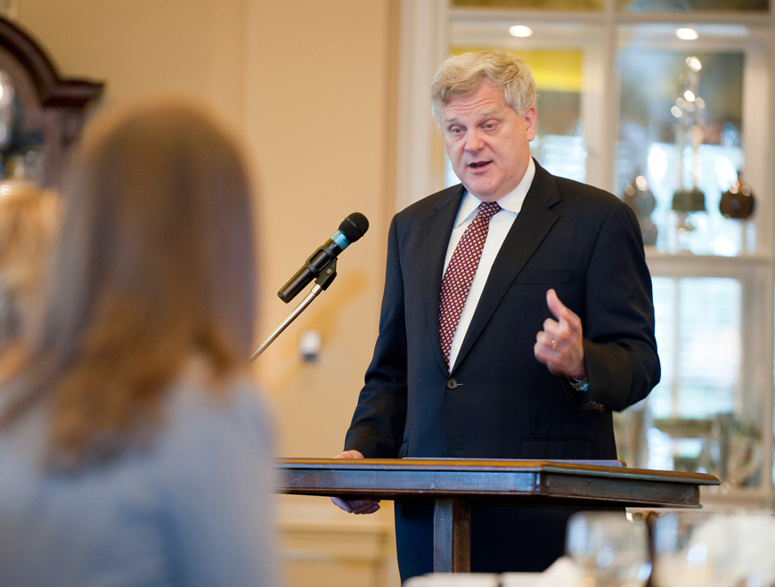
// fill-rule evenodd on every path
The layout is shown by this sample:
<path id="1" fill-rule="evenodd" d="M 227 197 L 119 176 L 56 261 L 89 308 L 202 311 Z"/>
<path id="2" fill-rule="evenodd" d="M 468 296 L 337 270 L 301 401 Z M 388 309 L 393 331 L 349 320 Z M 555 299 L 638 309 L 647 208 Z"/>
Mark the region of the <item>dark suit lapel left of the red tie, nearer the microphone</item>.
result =
<path id="1" fill-rule="evenodd" d="M 446 371 L 446 362 L 441 352 L 438 335 L 438 295 L 441 290 L 441 278 L 444 274 L 444 259 L 449 246 L 455 217 L 460 208 L 463 186 L 449 190 L 436 204 L 436 214 L 423 220 L 422 224 L 422 297 L 425 305 L 426 320 L 430 335 L 436 339 L 436 360 Z"/>

